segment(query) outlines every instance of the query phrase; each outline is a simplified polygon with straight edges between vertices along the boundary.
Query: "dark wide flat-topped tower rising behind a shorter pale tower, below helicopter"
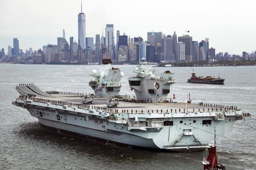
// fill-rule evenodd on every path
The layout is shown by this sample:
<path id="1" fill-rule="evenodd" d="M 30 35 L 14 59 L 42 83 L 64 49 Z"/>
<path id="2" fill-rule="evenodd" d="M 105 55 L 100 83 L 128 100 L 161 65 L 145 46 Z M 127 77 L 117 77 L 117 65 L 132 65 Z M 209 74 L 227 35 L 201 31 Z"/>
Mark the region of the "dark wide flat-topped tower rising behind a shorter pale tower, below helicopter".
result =
<path id="1" fill-rule="evenodd" d="M 180 36 L 178 42 L 185 43 L 185 60 L 192 61 L 192 37 L 189 35 Z"/>

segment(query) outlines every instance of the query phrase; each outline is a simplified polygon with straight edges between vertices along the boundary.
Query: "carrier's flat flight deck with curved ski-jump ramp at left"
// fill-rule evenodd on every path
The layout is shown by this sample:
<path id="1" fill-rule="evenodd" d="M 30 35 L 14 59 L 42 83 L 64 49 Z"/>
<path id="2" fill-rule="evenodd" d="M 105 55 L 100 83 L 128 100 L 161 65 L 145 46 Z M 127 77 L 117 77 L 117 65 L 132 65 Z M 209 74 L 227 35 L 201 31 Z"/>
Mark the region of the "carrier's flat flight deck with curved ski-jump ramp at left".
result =
<path id="1" fill-rule="evenodd" d="M 60 106 L 81 107 L 87 109 L 97 109 L 109 111 L 112 113 L 188 113 L 188 112 L 216 112 L 216 111 L 231 111 L 239 110 L 235 106 L 224 106 L 217 104 L 186 104 L 186 103 L 134 103 L 122 101 L 120 99 L 117 108 L 108 108 L 106 101 L 108 98 L 94 97 L 92 104 L 83 104 L 81 93 L 71 92 L 53 92 L 49 94 L 43 92 L 34 84 L 17 86 L 23 93 L 19 96 L 21 100 L 33 100 L 34 102 L 51 103 Z M 26 95 L 24 95 L 26 94 Z M 47 94 L 47 95 L 46 95 Z M 132 98 L 134 100 L 134 98 Z M 188 108 L 186 107 L 188 106 Z"/>

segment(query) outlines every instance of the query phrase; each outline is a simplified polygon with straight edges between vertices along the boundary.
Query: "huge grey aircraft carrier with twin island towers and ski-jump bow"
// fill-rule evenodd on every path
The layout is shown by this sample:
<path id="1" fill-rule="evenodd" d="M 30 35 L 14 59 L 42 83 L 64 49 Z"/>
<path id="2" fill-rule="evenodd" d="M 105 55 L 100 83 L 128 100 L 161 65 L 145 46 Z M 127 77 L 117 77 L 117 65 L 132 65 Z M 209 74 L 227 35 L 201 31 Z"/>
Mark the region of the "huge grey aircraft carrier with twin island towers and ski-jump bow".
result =
<path id="1" fill-rule="evenodd" d="M 105 60 L 102 70 L 92 70 L 95 94 L 44 92 L 34 84 L 19 84 L 13 105 L 23 107 L 39 123 L 106 141 L 153 149 L 203 150 L 216 135 L 226 135 L 237 120 L 250 118 L 236 106 L 173 103 L 168 98 L 176 82 L 167 70 L 152 70 L 145 59 L 128 78 L 136 97 L 120 96 L 123 74 Z M 86 96 L 86 100 L 82 100 Z M 108 100 L 118 105 L 107 106 Z M 84 102 L 88 101 L 88 102 Z"/>

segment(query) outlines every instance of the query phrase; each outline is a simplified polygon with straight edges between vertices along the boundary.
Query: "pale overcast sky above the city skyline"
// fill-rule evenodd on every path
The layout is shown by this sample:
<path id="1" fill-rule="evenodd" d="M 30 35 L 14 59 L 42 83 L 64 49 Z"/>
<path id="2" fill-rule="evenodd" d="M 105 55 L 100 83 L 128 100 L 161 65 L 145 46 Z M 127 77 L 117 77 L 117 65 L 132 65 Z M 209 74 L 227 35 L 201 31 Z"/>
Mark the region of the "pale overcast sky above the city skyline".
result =
<path id="1" fill-rule="evenodd" d="M 147 32 L 190 35 L 193 41 L 209 38 L 216 53 L 241 55 L 256 51 L 255 0 L 82 0 L 86 15 L 86 37 L 94 37 L 106 24 L 114 24 L 114 36 L 147 39 Z M 8 52 L 13 38 L 23 51 L 57 44 L 65 29 L 66 39 L 78 42 L 80 0 L 1 0 L 0 49 Z M 189 30 L 190 32 L 186 32 Z"/>

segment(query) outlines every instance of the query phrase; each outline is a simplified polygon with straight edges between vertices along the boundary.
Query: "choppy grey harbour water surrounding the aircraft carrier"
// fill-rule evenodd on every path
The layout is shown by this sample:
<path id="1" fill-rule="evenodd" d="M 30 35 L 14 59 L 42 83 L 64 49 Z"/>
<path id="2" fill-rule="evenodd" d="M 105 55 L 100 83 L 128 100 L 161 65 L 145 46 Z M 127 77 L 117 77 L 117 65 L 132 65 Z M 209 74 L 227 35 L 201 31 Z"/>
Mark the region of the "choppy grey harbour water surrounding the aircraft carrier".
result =
<path id="1" fill-rule="evenodd" d="M 129 76 L 134 65 L 114 65 L 124 72 L 122 92 L 130 91 Z M 18 97 L 15 86 L 34 83 L 44 91 L 93 93 L 88 81 L 100 66 L 0 64 L 0 169 L 203 169 L 203 151 L 160 152 L 96 141 L 58 133 L 42 127 L 26 109 L 12 106 Z M 195 67 L 197 76 L 220 76 L 224 85 L 190 84 L 192 68 L 154 68 L 171 70 L 177 80 L 171 95 L 185 102 L 206 102 L 238 106 L 250 112 L 248 121 L 236 121 L 226 138 L 217 140 L 219 162 L 228 170 L 256 169 L 256 66 Z M 239 143 L 240 142 L 240 143 Z"/>

